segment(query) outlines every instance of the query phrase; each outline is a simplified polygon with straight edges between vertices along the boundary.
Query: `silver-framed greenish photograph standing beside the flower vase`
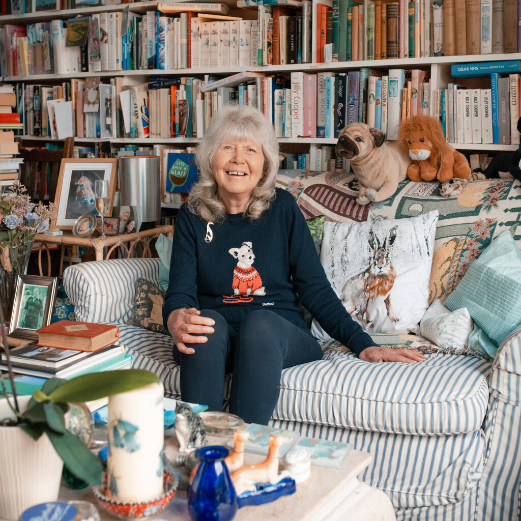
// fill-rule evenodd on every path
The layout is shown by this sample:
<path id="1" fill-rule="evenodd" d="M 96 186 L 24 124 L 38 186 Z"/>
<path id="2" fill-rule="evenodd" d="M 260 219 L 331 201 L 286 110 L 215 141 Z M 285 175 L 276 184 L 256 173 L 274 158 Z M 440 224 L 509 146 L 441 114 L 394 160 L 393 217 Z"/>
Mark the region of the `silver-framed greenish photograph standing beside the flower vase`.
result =
<path id="1" fill-rule="evenodd" d="M 38 340 L 37 329 L 51 324 L 58 287 L 56 277 L 19 275 L 9 335 Z"/>

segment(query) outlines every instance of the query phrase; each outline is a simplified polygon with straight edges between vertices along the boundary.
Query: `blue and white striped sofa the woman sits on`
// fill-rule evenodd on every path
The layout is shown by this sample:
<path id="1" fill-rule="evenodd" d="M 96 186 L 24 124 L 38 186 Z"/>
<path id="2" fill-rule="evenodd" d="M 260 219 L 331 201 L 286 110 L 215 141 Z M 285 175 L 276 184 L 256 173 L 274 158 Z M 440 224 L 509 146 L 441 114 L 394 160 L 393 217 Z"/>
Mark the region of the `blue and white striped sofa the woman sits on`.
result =
<path id="1" fill-rule="evenodd" d="M 158 281 L 159 259 L 71 266 L 64 286 L 78 320 L 110 322 L 179 398 L 172 339 L 126 325 L 134 283 Z M 490 389 L 488 379 L 490 379 Z M 226 380 L 226 396 L 230 378 Z M 494 362 L 428 354 L 420 364 L 367 364 L 343 346 L 282 372 L 271 424 L 303 436 L 346 441 L 374 457 L 361 479 L 389 495 L 399 521 L 521 519 L 521 327 Z"/>

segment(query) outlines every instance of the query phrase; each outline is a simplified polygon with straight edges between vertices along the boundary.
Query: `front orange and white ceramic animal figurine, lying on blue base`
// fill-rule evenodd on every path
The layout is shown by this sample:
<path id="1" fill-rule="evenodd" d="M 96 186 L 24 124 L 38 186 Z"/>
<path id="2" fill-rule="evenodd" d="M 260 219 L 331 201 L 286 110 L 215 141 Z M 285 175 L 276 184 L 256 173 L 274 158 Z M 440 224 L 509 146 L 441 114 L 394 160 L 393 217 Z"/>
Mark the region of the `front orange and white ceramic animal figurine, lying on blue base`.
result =
<path id="1" fill-rule="evenodd" d="M 288 470 L 282 470 L 279 473 L 279 449 L 281 445 L 287 442 L 288 438 L 271 435 L 269 437 L 269 451 L 266 460 L 254 465 L 245 465 L 232 473 L 231 479 L 237 495 L 248 490 L 255 490 L 255 483 L 271 483 L 271 485 L 275 485 L 281 479 L 291 477 Z"/>

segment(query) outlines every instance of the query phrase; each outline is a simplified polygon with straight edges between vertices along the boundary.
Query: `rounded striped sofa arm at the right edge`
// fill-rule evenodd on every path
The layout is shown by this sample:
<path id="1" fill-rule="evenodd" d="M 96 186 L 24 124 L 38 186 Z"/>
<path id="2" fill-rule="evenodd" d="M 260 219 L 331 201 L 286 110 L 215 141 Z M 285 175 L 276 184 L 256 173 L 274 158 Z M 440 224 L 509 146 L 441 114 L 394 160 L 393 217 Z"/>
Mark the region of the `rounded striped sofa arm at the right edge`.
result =
<path id="1" fill-rule="evenodd" d="M 503 403 L 521 405 L 521 326 L 498 348 L 490 375 L 490 394 Z"/>

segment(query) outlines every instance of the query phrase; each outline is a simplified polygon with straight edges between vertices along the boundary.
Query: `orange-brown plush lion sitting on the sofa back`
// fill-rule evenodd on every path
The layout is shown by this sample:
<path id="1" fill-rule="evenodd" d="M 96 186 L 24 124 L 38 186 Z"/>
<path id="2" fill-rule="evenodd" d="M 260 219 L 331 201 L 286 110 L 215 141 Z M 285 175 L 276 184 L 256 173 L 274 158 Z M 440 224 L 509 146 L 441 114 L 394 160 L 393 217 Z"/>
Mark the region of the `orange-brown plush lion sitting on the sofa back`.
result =
<path id="1" fill-rule="evenodd" d="M 444 183 L 454 177 L 470 177 L 467 159 L 445 141 L 437 119 L 418 115 L 402 121 L 398 127 L 398 141 L 408 148 L 413 160 L 407 168 L 411 181 L 438 179 Z"/>

